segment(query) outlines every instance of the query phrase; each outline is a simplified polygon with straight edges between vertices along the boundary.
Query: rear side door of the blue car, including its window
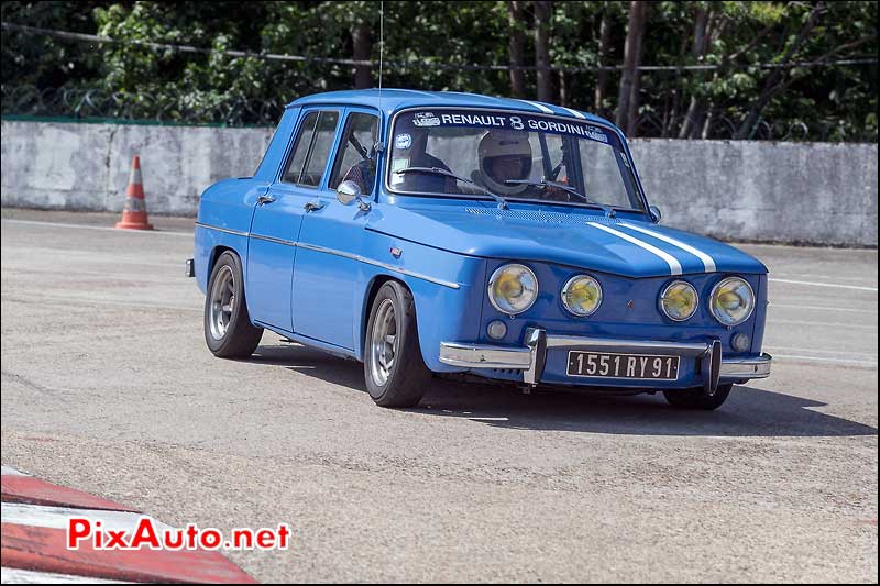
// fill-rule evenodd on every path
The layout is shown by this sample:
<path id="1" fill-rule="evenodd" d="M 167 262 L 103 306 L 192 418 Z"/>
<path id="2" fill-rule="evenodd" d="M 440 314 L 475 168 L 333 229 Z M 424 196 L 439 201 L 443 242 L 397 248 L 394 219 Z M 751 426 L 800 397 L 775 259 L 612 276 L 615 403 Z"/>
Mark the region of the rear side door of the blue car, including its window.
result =
<path id="1" fill-rule="evenodd" d="M 292 332 L 296 241 L 306 204 L 324 180 L 341 111 L 308 109 L 300 115 L 285 165 L 257 199 L 248 246 L 248 309 L 262 325 Z"/>

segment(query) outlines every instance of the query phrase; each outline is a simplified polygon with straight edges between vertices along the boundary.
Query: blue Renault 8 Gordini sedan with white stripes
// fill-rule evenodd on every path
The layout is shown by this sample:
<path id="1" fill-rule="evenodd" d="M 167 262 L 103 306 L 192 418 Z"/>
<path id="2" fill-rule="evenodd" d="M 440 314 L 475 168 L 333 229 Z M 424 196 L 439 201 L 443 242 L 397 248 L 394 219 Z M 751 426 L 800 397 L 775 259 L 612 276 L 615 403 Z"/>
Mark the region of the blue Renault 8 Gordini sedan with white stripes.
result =
<path id="1" fill-rule="evenodd" d="M 205 339 L 265 329 L 364 364 L 373 400 L 435 376 L 715 409 L 767 377 L 767 267 L 664 228 L 614 124 L 549 103 L 359 90 L 287 106 L 253 177 L 201 196 Z"/>

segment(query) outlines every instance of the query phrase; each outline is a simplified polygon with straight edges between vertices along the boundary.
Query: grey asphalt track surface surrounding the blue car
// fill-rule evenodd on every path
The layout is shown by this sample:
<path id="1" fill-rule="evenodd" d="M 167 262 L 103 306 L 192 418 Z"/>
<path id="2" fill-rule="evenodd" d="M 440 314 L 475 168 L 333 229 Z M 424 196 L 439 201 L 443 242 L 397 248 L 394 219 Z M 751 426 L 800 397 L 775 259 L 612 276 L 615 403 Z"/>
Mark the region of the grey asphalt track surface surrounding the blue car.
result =
<path id="1" fill-rule="evenodd" d="M 443 382 L 392 411 L 274 334 L 212 357 L 191 220 L 116 219 L 3 210 L 3 465 L 169 524 L 286 521 L 290 551 L 230 555 L 264 581 L 878 579 L 877 251 L 744 246 L 777 361 L 716 412 Z"/>

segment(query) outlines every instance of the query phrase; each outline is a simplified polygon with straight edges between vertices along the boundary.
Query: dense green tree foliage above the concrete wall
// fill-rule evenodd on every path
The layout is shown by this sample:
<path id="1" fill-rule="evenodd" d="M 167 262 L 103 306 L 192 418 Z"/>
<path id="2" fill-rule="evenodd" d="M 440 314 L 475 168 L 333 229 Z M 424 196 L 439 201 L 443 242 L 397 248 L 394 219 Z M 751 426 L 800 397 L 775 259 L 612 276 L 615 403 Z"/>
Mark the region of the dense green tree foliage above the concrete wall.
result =
<path id="1" fill-rule="evenodd" d="M 526 53 L 534 59 L 534 10 L 524 4 L 516 26 L 526 33 Z M 508 63 L 507 2 L 386 1 L 384 7 L 385 87 L 510 93 L 506 70 L 468 67 Z M 629 7 L 553 3 L 550 55 L 554 68 L 568 68 L 557 71 L 554 82 L 568 106 L 594 109 L 597 71 L 573 69 L 600 65 L 603 18 L 610 25 L 605 64 L 622 64 Z M 351 65 L 318 58 L 351 59 L 352 33 L 362 23 L 370 27 L 377 63 L 378 10 L 378 2 L 370 1 L 2 2 L 4 23 L 124 41 L 84 43 L 4 30 L 3 113 L 40 113 L 26 99 L 12 98 L 23 87 L 43 98 L 59 96 L 62 88 L 65 96 L 99 92 L 108 117 L 271 124 L 283 104 L 299 96 L 352 87 Z M 701 13 L 707 43 L 697 51 Z M 253 55 L 186 53 L 135 42 Z M 309 58 L 275 60 L 261 53 Z M 636 134 L 877 141 L 877 2 L 651 2 L 642 53 L 644 65 L 670 69 L 638 76 Z M 823 64 L 865 57 L 873 63 Z M 820 65 L 792 66 L 798 62 Z M 675 69 L 692 65 L 718 69 Z M 609 87 L 598 109 L 613 117 L 620 74 L 606 77 Z M 373 79 L 378 80 L 375 68 Z M 526 84 L 535 96 L 534 70 L 526 71 Z"/>

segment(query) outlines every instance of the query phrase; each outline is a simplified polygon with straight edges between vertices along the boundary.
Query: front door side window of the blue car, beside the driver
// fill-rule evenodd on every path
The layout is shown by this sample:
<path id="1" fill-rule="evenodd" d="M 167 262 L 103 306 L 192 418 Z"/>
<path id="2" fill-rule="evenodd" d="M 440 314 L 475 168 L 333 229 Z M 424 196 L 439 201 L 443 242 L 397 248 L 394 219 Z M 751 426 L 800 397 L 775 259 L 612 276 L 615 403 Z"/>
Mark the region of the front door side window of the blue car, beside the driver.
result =
<path id="1" fill-rule="evenodd" d="M 345 122 L 342 142 L 339 143 L 329 187 L 336 189 L 345 180 L 355 181 L 363 194 L 371 194 L 375 184 L 375 161 L 371 158 L 376 142 L 378 118 L 372 114 L 352 113 Z"/>

